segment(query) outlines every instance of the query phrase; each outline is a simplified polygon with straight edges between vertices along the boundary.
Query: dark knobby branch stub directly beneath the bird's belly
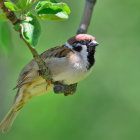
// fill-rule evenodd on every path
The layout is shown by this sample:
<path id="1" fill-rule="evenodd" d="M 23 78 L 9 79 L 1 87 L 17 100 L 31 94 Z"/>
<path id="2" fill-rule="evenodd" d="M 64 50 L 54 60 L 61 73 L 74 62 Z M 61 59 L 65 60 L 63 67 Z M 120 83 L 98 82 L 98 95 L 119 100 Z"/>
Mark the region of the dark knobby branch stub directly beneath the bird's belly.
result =
<path id="1" fill-rule="evenodd" d="M 71 84 L 71 85 L 64 85 L 60 82 L 55 82 L 54 83 L 54 93 L 59 94 L 59 93 L 64 93 L 65 96 L 74 94 L 77 88 L 77 83 Z"/>

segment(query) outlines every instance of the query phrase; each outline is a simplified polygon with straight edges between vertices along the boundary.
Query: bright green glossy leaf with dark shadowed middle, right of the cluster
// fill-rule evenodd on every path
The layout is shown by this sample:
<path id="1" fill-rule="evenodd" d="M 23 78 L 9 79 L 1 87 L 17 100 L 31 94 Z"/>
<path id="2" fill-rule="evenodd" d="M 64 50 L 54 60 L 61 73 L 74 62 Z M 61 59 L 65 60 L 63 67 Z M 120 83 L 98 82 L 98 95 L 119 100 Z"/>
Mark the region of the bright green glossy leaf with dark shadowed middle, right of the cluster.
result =
<path id="1" fill-rule="evenodd" d="M 40 1 L 35 7 L 37 15 L 43 20 L 64 20 L 68 19 L 70 9 L 65 3 L 52 3 Z"/>

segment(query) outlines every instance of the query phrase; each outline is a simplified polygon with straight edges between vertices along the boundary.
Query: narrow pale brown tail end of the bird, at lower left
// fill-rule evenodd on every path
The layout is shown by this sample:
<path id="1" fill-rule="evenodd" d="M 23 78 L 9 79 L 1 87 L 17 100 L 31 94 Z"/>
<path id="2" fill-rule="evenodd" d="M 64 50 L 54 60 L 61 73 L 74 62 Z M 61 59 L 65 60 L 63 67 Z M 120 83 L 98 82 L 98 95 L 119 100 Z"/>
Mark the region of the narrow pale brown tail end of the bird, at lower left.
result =
<path id="1" fill-rule="evenodd" d="M 18 113 L 19 110 L 16 111 L 15 106 L 13 105 L 9 110 L 9 112 L 7 113 L 7 115 L 5 116 L 5 118 L 0 123 L 0 131 L 2 131 L 3 133 L 7 132 L 11 128 Z"/>

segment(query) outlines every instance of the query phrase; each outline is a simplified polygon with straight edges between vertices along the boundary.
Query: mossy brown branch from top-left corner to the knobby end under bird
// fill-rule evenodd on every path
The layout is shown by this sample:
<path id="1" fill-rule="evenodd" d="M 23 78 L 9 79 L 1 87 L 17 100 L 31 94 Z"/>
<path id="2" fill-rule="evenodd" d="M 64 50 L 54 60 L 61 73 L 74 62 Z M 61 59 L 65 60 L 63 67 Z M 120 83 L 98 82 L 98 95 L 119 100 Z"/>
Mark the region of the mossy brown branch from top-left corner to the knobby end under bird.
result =
<path id="1" fill-rule="evenodd" d="M 0 8 L 5 13 L 6 17 L 11 21 L 13 25 L 16 25 L 21 22 L 20 19 L 18 19 L 14 12 L 10 11 L 7 7 L 4 5 L 4 0 L 0 0 Z M 21 25 L 22 26 L 22 25 Z M 34 49 L 22 36 L 21 30 L 18 31 L 20 34 L 20 38 L 25 42 L 27 47 L 29 48 L 30 52 L 32 53 L 34 60 L 37 62 L 39 67 L 40 75 L 43 79 L 45 79 L 48 83 L 54 84 L 54 92 L 55 93 L 64 93 L 65 96 L 72 94 L 76 90 L 77 84 L 74 85 L 63 85 L 58 82 L 53 82 L 52 75 L 49 70 L 49 68 L 45 65 L 45 62 L 41 59 L 41 56 L 37 53 L 36 49 Z"/>

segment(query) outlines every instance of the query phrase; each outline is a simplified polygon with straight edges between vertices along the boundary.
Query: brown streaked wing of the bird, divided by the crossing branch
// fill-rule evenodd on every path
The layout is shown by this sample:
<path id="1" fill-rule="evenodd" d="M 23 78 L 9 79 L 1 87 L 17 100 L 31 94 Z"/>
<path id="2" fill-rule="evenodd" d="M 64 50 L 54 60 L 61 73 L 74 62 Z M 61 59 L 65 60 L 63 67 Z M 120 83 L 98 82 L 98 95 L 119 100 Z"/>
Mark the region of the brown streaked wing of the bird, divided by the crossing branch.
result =
<path id="1" fill-rule="evenodd" d="M 66 57 L 69 52 L 72 52 L 72 50 L 69 49 L 68 47 L 57 46 L 57 47 L 51 48 L 51 49 L 43 52 L 41 54 L 41 58 L 44 61 L 46 61 L 46 59 L 50 59 L 53 57 L 59 59 L 62 57 Z M 19 78 L 18 78 L 18 84 L 14 89 L 20 88 L 22 85 L 30 83 L 30 82 L 34 81 L 35 79 L 37 79 L 37 77 L 39 76 L 38 70 L 39 70 L 39 68 L 38 68 L 38 65 L 35 62 L 35 60 L 32 60 L 31 62 L 29 62 L 29 64 L 27 64 L 21 71 Z"/>

